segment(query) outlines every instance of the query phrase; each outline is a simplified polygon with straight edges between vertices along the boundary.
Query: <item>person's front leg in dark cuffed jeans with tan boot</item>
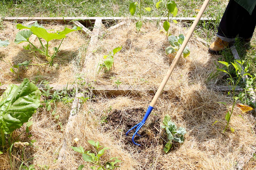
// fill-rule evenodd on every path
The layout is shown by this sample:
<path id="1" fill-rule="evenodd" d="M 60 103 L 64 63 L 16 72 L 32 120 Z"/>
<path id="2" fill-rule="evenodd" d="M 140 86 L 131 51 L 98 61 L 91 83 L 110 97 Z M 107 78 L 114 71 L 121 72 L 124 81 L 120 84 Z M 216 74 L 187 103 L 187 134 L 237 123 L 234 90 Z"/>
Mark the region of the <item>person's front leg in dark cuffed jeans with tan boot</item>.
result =
<path id="1" fill-rule="evenodd" d="M 218 54 L 234 43 L 242 25 L 244 13 L 249 12 L 234 0 L 230 0 L 220 21 L 217 40 L 209 46 L 208 52 Z"/>

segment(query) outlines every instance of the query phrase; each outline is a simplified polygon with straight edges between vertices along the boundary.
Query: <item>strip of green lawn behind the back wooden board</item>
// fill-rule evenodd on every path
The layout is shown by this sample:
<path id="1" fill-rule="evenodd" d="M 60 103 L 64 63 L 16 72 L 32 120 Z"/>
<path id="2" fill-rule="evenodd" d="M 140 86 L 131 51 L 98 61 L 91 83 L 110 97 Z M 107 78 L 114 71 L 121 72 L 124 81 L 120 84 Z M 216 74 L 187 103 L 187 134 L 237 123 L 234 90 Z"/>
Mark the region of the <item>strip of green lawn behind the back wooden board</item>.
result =
<path id="1" fill-rule="evenodd" d="M 129 4 L 125 0 L 1 0 L 2 17 L 125 17 L 129 16 Z M 166 17 L 163 3 L 157 9 L 158 0 L 144 0 L 143 7 L 151 7 L 150 12 L 142 10 L 142 16 Z M 166 1 L 162 1 L 166 2 Z M 194 17 L 203 0 L 178 0 L 177 17 Z M 223 13 L 226 1 L 210 1 L 204 17 L 215 17 Z M 136 11 L 135 15 L 138 15 Z"/>

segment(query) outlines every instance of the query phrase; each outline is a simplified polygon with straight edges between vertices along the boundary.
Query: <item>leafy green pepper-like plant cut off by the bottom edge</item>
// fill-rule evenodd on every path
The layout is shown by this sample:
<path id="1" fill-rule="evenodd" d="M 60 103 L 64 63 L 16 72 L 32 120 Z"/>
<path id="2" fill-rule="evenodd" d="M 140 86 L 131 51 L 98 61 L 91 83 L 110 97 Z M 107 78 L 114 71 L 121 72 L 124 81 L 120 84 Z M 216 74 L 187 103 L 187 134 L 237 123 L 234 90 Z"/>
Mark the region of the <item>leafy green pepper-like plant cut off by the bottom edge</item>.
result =
<path id="1" fill-rule="evenodd" d="M 91 150 L 89 151 L 84 151 L 83 147 L 71 147 L 74 151 L 82 153 L 82 158 L 84 161 L 86 162 L 90 162 L 91 164 L 93 164 L 94 166 L 91 166 L 90 168 L 93 170 L 112 170 L 115 169 L 117 167 L 116 164 L 120 161 L 119 159 L 117 159 L 117 157 L 113 157 L 110 158 L 107 162 L 103 162 L 101 160 L 101 156 L 105 153 L 105 150 L 109 149 L 103 146 L 100 146 L 100 143 L 94 142 L 93 140 L 88 140 L 88 143 L 90 143 L 96 150 L 96 152 L 91 152 Z M 84 165 L 80 165 L 78 167 L 78 170 L 83 169 Z"/>

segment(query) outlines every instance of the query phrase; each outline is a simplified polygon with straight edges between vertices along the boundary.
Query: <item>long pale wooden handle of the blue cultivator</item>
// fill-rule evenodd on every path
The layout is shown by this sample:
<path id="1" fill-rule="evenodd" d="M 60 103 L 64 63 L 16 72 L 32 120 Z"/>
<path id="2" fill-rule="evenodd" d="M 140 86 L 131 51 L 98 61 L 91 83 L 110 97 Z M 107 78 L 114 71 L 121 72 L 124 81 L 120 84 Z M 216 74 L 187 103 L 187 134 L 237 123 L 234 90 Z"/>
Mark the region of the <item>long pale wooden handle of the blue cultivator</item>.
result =
<path id="1" fill-rule="evenodd" d="M 191 26 L 190 29 L 188 30 L 188 33 L 187 33 L 187 35 L 186 35 L 186 37 L 185 37 L 185 40 L 183 41 L 182 45 L 180 46 L 180 48 L 179 48 L 179 50 L 178 50 L 178 52 L 177 52 L 177 54 L 176 54 L 176 56 L 175 56 L 175 58 L 174 58 L 174 60 L 173 60 L 173 62 L 172 62 L 172 64 L 171 64 L 169 70 L 167 71 L 166 75 L 164 76 L 164 79 L 163 79 L 162 83 L 160 84 L 160 86 L 159 86 L 158 90 L 156 91 L 156 94 L 155 94 L 155 96 L 154 96 L 152 102 L 150 103 L 150 106 L 151 106 L 151 107 L 154 107 L 154 106 L 155 106 L 156 101 L 158 100 L 159 96 L 161 95 L 161 93 L 162 93 L 162 91 L 163 91 L 163 89 L 164 89 L 164 86 L 166 85 L 166 83 L 167 83 L 167 81 L 168 81 L 170 75 L 172 74 L 172 72 L 173 72 L 173 70 L 174 70 L 174 68 L 175 68 L 175 66 L 176 66 L 176 64 L 177 64 L 177 62 L 179 61 L 179 58 L 180 58 L 180 56 L 182 55 L 183 50 L 185 49 L 185 47 L 186 47 L 186 45 L 187 45 L 187 43 L 188 43 L 188 41 L 189 41 L 189 39 L 190 39 L 192 33 L 194 32 L 194 30 L 195 30 L 195 28 L 196 28 L 197 23 L 199 22 L 199 20 L 200 20 L 202 14 L 203 14 L 204 11 L 205 11 L 205 8 L 206 8 L 207 4 L 209 3 L 209 1 L 210 1 L 210 0 L 205 0 L 205 1 L 204 1 L 203 5 L 202 5 L 202 7 L 201 7 L 201 9 L 200 9 L 200 11 L 198 12 L 198 14 L 197 14 L 197 16 L 196 16 L 196 19 L 194 20 L 192 26 Z"/>

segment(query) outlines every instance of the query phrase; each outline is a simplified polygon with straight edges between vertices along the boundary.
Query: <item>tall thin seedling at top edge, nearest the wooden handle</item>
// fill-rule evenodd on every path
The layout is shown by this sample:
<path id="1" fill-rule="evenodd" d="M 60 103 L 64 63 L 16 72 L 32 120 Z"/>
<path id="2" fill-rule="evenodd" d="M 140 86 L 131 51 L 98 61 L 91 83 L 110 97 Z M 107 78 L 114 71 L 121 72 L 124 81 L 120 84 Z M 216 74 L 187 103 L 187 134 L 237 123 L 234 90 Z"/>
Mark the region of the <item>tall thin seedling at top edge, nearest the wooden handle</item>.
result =
<path id="1" fill-rule="evenodd" d="M 156 3 L 156 8 L 159 8 L 159 5 L 161 4 L 161 2 L 162 1 L 159 1 Z M 166 21 L 164 21 L 164 24 L 163 24 L 164 30 L 166 31 L 166 35 L 168 36 L 168 31 L 170 28 L 169 16 L 170 16 L 170 14 L 172 14 L 173 17 L 175 17 L 178 14 L 178 8 L 176 7 L 177 4 L 174 1 L 167 1 L 166 4 L 164 2 L 162 2 L 162 3 L 168 10 L 168 19 Z M 177 20 L 173 20 L 173 22 L 178 23 Z"/>

